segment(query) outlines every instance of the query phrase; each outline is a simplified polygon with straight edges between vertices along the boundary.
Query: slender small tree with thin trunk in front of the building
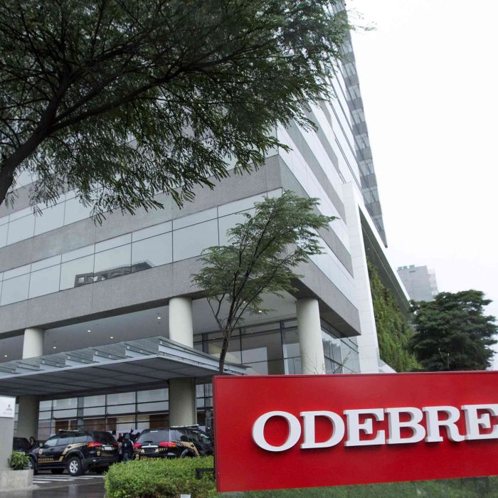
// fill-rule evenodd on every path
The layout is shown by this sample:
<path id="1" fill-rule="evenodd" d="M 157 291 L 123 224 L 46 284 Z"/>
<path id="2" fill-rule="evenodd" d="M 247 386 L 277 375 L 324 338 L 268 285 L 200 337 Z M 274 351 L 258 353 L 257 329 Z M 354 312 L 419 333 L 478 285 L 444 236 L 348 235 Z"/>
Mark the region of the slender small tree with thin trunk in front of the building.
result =
<path id="1" fill-rule="evenodd" d="M 285 191 L 277 198 L 255 204 L 255 213 L 228 230 L 228 245 L 207 248 L 203 268 L 192 275 L 206 291 L 208 303 L 223 333 L 219 371 L 223 373 L 233 329 L 245 313 L 261 308 L 262 294 L 282 297 L 295 290 L 292 269 L 322 253 L 319 228 L 328 228 L 333 216 L 317 214 L 317 198 L 302 198 Z"/>

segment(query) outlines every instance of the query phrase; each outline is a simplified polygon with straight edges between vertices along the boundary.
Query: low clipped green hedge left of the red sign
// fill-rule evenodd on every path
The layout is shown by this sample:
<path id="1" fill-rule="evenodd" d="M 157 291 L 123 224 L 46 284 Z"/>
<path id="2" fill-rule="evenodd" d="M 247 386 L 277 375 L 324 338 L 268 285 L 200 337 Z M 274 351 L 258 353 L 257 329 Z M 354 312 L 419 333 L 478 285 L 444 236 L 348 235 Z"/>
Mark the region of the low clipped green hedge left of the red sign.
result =
<path id="1" fill-rule="evenodd" d="M 108 498 L 192 498 L 216 496 L 213 477 L 196 479 L 196 467 L 213 467 L 213 457 L 132 460 L 112 465 L 105 476 Z"/>

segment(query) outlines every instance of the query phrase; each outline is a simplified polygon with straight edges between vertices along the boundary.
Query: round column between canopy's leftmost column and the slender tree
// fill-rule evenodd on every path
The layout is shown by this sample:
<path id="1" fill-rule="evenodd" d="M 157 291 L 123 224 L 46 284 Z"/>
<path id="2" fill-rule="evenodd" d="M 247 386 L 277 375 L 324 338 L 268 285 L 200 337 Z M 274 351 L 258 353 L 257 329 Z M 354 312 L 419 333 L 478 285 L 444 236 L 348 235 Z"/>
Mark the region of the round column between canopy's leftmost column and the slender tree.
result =
<path id="1" fill-rule="evenodd" d="M 194 347 L 194 323 L 190 297 L 169 300 L 169 339 Z M 193 425 L 197 422 L 196 386 L 193 378 L 169 381 L 169 425 Z"/>

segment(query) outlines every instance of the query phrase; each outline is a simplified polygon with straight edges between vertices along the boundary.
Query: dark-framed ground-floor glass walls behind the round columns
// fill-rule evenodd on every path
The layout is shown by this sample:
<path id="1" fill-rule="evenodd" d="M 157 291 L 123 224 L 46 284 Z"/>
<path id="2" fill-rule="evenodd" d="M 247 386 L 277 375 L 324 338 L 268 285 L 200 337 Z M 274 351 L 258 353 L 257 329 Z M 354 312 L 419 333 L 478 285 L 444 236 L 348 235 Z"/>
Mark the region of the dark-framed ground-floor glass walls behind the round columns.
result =
<path id="1" fill-rule="evenodd" d="M 221 333 L 194 336 L 194 347 L 218 356 Z M 359 372 L 358 346 L 354 338 L 340 338 L 322 322 L 322 343 L 327 373 Z M 226 360 L 243 363 L 248 373 L 279 375 L 301 373 L 300 346 L 295 319 L 240 327 L 231 338 Z M 197 420 L 211 426 L 213 391 L 211 383 L 196 386 Z M 169 425 L 168 388 L 127 393 L 99 394 L 40 402 L 38 439 L 45 440 L 58 430 L 109 430 L 117 434 L 130 429 Z"/>

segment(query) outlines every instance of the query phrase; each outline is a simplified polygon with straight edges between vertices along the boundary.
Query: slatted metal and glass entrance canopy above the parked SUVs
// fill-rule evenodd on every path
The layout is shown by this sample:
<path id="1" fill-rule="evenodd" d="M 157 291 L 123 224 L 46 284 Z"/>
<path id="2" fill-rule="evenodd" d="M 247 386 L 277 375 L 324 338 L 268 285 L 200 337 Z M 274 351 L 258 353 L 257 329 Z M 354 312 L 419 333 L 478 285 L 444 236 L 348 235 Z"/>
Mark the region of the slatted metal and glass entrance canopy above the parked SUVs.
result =
<path id="1" fill-rule="evenodd" d="M 242 375 L 245 366 L 226 364 Z M 0 364 L 0 395 L 63 398 L 139 391 L 170 378 L 202 380 L 218 373 L 218 358 L 164 337 L 150 337 Z"/>

